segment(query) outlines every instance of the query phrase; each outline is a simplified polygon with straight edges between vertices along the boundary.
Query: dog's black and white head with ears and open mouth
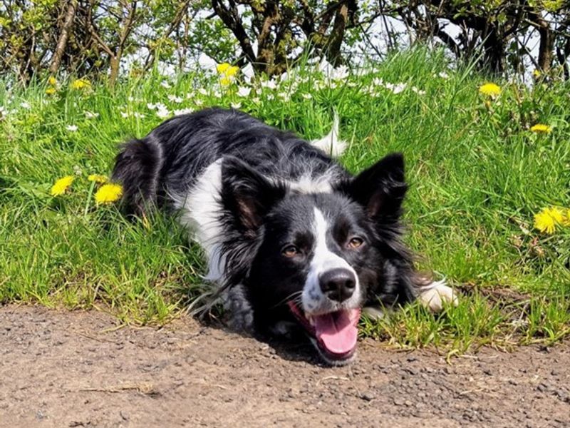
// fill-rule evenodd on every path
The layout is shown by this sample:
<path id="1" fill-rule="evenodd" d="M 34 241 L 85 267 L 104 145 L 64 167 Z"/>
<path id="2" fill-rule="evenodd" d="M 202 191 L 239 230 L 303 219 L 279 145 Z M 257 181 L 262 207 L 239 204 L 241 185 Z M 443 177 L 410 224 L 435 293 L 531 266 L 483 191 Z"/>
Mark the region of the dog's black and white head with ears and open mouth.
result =
<path id="1" fill-rule="evenodd" d="M 258 327 L 296 320 L 325 360 L 342 364 L 355 353 L 361 307 L 391 292 L 390 263 L 407 263 L 398 240 L 403 157 L 387 156 L 331 189 L 299 193 L 237 159 L 222 165 L 224 218 L 235 231 L 229 280 L 245 285 Z"/>

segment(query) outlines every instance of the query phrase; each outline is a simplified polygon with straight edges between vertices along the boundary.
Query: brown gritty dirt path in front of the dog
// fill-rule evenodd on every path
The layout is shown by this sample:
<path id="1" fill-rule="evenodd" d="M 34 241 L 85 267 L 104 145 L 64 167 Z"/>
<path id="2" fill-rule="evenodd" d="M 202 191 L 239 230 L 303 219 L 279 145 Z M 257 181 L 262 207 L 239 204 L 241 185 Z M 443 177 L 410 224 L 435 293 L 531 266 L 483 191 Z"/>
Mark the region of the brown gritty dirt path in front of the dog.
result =
<path id="1" fill-rule="evenodd" d="M 190 318 L 0 307 L 1 427 L 570 427 L 570 348 L 435 352 L 361 342 L 349 367 Z"/>

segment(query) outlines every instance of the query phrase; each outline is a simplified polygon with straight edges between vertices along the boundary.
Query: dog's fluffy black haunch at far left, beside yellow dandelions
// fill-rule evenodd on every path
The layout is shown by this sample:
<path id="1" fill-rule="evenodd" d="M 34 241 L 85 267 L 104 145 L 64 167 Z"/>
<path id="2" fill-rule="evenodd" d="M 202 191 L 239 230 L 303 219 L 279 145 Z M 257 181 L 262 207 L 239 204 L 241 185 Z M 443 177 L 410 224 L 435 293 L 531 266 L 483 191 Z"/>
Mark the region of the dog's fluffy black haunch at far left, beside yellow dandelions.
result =
<path id="1" fill-rule="evenodd" d="M 123 207 L 130 214 L 143 215 L 154 205 L 162 168 L 162 147 L 147 136 L 125 143 L 115 158 L 111 180 L 123 185 Z"/>

